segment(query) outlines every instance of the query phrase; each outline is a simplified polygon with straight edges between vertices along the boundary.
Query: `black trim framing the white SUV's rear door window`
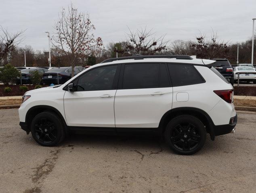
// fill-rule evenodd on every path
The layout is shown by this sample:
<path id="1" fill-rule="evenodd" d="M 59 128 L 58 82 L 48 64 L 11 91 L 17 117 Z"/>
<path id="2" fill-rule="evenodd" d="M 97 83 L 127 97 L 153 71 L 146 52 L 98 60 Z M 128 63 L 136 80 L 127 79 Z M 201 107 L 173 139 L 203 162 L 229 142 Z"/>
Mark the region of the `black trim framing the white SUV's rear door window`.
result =
<path id="1" fill-rule="evenodd" d="M 168 71 L 167 63 L 166 62 L 129 62 L 129 63 L 122 63 L 121 66 L 121 71 L 120 71 L 120 76 L 119 76 L 119 82 L 118 82 L 118 90 L 130 90 L 130 89 L 147 89 L 147 88 L 123 88 L 123 82 L 124 82 L 124 66 L 129 65 L 129 64 L 159 64 L 159 72 L 158 72 L 158 83 L 157 87 L 147 87 L 147 88 L 171 88 L 172 87 L 172 82 L 170 79 L 170 73 Z M 159 86 L 160 84 L 160 70 L 163 68 L 162 66 L 165 66 L 168 74 L 168 79 L 169 79 L 169 86 Z"/>

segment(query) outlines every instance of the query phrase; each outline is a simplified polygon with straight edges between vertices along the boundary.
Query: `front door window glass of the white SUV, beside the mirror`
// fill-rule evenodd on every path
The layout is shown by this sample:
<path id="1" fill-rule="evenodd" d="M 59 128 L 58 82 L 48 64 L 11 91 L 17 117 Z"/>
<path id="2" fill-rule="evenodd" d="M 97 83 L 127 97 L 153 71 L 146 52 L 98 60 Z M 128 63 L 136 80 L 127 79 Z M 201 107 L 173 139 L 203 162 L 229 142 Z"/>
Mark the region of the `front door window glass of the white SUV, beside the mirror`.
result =
<path id="1" fill-rule="evenodd" d="M 78 79 L 77 91 L 112 90 L 117 67 L 103 66 L 82 74 Z"/>

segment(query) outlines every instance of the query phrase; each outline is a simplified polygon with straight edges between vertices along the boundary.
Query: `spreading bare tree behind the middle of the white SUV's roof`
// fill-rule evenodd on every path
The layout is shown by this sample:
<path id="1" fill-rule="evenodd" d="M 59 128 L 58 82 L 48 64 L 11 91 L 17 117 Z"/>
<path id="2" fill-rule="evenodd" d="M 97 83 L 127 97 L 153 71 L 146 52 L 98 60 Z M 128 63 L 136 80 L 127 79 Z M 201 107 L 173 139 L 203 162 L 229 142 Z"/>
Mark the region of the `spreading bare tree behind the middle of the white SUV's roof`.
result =
<path id="1" fill-rule="evenodd" d="M 170 40 L 165 41 L 165 35 L 155 37 L 155 32 L 152 29 L 137 29 L 136 32 L 132 32 L 129 29 L 127 33 L 127 42 L 125 46 L 126 52 L 133 54 L 153 55 L 161 53 L 166 50 L 166 45 Z"/>

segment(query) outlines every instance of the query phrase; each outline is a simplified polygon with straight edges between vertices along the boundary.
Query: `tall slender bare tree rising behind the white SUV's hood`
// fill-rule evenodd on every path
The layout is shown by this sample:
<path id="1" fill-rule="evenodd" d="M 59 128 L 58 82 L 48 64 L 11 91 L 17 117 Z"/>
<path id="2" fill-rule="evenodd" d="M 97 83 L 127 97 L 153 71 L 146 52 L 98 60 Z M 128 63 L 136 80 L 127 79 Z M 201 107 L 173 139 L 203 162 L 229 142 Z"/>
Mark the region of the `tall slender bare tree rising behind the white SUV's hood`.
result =
<path id="1" fill-rule="evenodd" d="M 53 45 L 59 54 L 69 58 L 72 66 L 72 77 L 76 61 L 84 55 L 90 54 L 90 50 L 101 50 L 103 43 L 101 37 L 94 37 L 95 30 L 89 14 L 78 12 L 71 4 L 67 11 L 63 8 L 59 14 L 59 20 L 55 22 L 56 33 L 52 37 Z"/>

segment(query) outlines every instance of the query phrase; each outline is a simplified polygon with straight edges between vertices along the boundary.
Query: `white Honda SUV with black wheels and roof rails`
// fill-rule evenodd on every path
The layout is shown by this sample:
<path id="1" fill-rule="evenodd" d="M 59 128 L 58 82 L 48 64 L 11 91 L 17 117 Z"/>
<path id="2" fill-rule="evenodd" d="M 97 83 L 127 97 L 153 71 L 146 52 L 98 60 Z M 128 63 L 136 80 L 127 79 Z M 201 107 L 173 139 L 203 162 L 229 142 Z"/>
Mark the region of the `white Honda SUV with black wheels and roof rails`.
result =
<path id="1" fill-rule="evenodd" d="M 179 154 L 193 154 L 215 136 L 234 132 L 233 87 L 213 60 L 187 55 L 111 58 L 63 85 L 28 91 L 21 128 L 42 146 L 70 132 L 153 132 Z"/>

